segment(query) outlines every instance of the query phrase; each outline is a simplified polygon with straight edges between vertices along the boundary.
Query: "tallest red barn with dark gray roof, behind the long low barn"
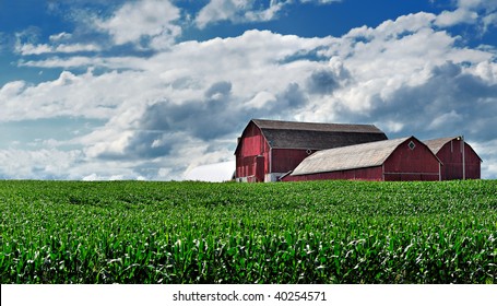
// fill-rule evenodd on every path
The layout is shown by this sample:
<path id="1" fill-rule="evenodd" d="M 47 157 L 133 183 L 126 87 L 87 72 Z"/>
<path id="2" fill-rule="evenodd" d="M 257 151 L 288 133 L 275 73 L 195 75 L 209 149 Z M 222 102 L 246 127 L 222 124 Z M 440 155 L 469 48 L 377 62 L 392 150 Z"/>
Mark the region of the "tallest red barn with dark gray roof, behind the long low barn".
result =
<path id="1" fill-rule="evenodd" d="M 386 140 L 372 125 L 252 119 L 235 150 L 237 181 L 276 181 L 313 152 Z"/>

